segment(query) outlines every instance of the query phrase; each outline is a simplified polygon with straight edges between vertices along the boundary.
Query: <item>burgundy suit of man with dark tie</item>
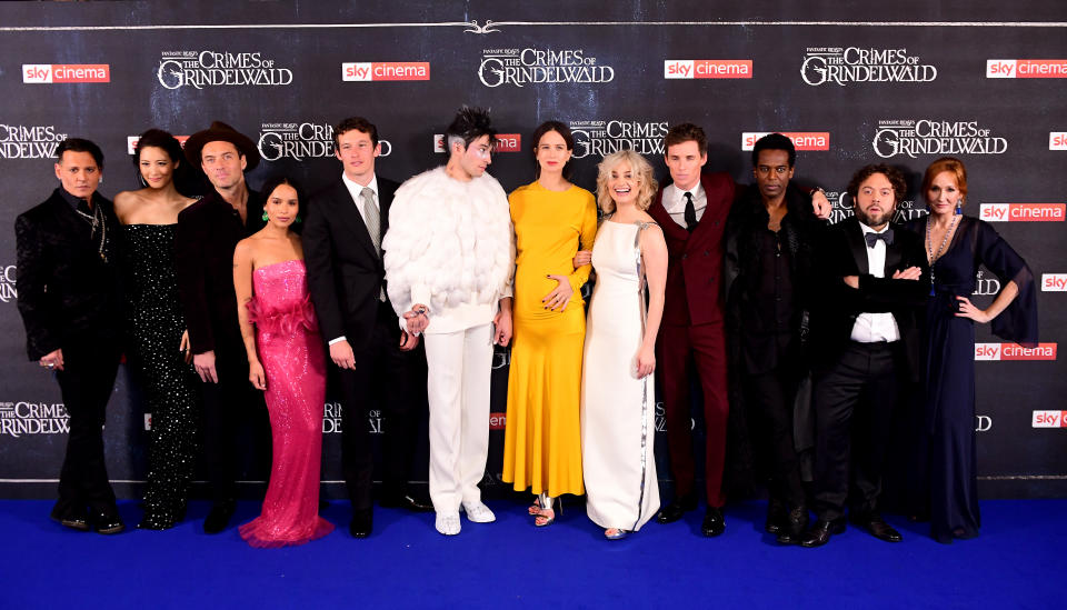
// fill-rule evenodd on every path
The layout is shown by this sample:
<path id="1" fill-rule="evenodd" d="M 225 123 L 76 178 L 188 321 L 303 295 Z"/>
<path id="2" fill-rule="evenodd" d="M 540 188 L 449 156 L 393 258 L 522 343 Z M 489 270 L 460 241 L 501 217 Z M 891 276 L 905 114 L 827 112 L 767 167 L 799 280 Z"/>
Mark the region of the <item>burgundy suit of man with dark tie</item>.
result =
<path id="1" fill-rule="evenodd" d="M 668 252 L 664 320 L 656 342 L 656 358 L 664 389 L 675 498 L 694 493 L 689 414 L 689 371 L 694 370 L 704 393 L 708 506 L 721 508 L 726 502 L 722 464 L 729 413 L 722 324 L 722 233 L 736 187 L 734 179 L 725 172 L 702 174 L 700 183 L 708 204 L 691 233 L 667 213 L 662 190 L 648 210 L 664 230 Z"/>

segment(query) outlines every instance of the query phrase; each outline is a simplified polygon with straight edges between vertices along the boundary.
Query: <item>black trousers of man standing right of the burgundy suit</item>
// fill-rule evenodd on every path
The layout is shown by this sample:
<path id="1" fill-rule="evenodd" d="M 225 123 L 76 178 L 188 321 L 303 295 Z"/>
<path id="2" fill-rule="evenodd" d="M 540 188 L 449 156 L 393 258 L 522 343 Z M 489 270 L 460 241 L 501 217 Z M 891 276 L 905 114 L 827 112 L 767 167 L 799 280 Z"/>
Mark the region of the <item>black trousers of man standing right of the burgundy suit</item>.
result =
<path id="1" fill-rule="evenodd" d="M 800 382 L 795 369 L 780 364 L 766 372 L 745 374 L 757 462 L 769 474 L 771 498 L 780 499 L 790 508 L 806 503 L 792 434 L 794 401 Z"/>

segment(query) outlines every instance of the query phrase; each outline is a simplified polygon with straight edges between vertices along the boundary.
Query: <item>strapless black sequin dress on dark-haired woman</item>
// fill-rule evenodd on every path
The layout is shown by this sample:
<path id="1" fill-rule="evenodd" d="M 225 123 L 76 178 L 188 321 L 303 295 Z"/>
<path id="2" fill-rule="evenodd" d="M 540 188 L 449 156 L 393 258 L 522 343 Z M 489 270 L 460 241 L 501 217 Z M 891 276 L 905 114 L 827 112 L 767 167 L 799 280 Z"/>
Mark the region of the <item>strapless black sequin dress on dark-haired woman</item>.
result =
<path id="1" fill-rule="evenodd" d="M 148 487 L 140 527 L 167 529 L 186 511 L 197 454 L 196 373 L 179 351 L 186 322 L 174 273 L 177 224 L 124 229 L 130 314 L 130 364 L 151 413 Z"/>

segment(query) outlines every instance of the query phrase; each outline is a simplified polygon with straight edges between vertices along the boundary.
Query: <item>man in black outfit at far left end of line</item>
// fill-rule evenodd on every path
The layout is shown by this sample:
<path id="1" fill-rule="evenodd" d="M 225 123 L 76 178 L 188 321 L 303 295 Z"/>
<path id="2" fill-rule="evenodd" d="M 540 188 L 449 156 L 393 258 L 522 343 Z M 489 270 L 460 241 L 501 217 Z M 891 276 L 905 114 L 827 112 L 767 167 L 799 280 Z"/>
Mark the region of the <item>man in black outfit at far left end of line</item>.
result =
<path id="1" fill-rule="evenodd" d="M 16 288 L 30 360 L 56 372 L 70 416 L 52 519 L 100 533 L 124 529 L 103 459 L 103 423 L 122 333 L 119 221 L 97 192 L 100 148 L 68 138 L 56 150 L 52 196 L 14 221 Z"/>

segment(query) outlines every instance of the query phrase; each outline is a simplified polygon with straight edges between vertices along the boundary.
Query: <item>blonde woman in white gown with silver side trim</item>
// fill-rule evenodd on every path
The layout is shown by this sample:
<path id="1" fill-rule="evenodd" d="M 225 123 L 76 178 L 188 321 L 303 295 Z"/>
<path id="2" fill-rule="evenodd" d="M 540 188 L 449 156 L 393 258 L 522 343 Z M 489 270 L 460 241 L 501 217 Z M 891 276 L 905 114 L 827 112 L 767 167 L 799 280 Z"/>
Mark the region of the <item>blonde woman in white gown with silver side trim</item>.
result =
<path id="1" fill-rule="evenodd" d="M 648 161 L 622 150 L 606 157 L 599 170 L 597 203 L 606 216 L 592 247 L 597 283 L 582 360 L 581 460 L 586 512 L 616 540 L 639 530 L 659 509 L 651 373 L 667 244 L 645 212 L 657 188 Z"/>

